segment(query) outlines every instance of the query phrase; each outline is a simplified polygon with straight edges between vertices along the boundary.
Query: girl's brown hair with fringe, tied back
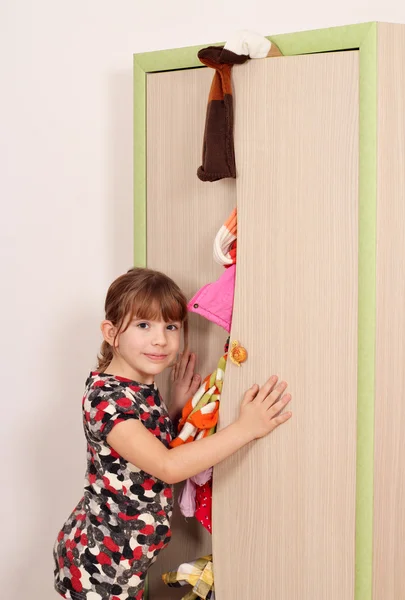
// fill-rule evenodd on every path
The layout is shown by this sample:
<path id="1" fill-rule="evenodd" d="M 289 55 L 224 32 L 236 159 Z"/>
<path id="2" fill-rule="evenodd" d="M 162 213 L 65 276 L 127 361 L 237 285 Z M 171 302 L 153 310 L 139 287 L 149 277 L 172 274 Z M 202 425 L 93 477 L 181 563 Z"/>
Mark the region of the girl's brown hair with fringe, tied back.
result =
<path id="1" fill-rule="evenodd" d="M 123 328 L 127 317 L 129 319 Z M 117 328 L 115 337 L 128 328 L 134 317 L 145 320 L 161 318 L 166 323 L 180 321 L 183 325 L 184 348 L 187 349 L 187 300 L 167 275 L 138 267 L 113 281 L 105 299 L 105 318 Z M 113 356 L 113 347 L 104 341 L 97 357 L 97 370 L 105 371 Z"/>

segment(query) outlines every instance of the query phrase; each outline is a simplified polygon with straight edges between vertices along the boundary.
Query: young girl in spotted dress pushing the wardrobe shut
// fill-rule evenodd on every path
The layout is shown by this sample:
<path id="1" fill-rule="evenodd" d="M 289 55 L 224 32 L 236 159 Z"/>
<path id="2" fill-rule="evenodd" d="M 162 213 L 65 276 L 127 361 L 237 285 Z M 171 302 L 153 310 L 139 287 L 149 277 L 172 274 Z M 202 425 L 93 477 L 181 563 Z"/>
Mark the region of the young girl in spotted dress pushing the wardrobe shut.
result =
<path id="1" fill-rule="evenodd" d="M 83 397 L 84 496 L 54 547 L 55 589 L 72 600 L 141 600 L 146 573 L 170 541 L 173 484 L 273 431 L 291 396 L 271 377 L 244 395 L 239 418 L 218 433 L 169 449 L 174 422 L 200 385 L 187 350 L 187 302 L 166 275 L 131 269 L 110 286 L 104 342 Z M 172 374 L 167 409 L 154 383 Z"/>

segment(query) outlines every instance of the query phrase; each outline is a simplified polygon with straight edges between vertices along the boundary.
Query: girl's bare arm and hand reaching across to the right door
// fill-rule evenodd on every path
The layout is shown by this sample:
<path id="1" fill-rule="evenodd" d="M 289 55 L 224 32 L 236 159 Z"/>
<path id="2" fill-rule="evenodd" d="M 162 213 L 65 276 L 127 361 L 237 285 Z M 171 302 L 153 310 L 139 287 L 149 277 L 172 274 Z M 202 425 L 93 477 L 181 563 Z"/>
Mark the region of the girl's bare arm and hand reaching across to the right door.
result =
<path id="1" fill-rule="evenodd" d="M 261 389 L 252 386 L 244 395 L 237 421 L 202 440 L 169 450 L 140 421 L 130 419 L 116 425 L 107 442 L 138 469 L 168 484 L 178 483 L 218 464 L 291 417 L 290 412 L 280 414 L 291 400 L 290 394 L 281 398 L 287 384 L 276 383 L 273 376 Z"/>

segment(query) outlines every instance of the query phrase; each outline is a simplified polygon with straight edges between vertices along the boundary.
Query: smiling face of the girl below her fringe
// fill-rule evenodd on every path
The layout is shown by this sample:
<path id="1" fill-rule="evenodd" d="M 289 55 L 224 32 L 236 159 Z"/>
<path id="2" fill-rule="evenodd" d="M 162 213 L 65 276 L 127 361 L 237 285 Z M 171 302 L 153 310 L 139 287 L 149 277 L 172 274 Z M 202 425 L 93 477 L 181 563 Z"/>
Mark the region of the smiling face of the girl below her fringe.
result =
<path id="1" fill-rule="evenodd" d="M 126 325 L 124 323 L 124 329 Z M 155 376 L 176 359 L 181 328 L 180 321 L 166 323 L 135 317 L 117 336 L 114 367 L 119 366 L 123 377 L 153 383 Z"/>

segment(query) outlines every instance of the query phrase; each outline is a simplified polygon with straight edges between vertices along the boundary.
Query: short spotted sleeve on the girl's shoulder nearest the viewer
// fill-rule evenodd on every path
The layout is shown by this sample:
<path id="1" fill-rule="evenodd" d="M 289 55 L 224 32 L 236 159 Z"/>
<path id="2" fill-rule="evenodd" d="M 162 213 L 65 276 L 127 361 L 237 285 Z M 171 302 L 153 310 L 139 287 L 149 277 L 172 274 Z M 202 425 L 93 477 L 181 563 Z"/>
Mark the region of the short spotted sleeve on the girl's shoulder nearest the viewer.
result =
<path id="1" fill-rule="evenodd" d="M 139 403 L 125 388 L 111 391 L 93 388 L 84 397 L 84 426 L 96 441 L 105 441 L 118 423 L 139 418 Z"/>

